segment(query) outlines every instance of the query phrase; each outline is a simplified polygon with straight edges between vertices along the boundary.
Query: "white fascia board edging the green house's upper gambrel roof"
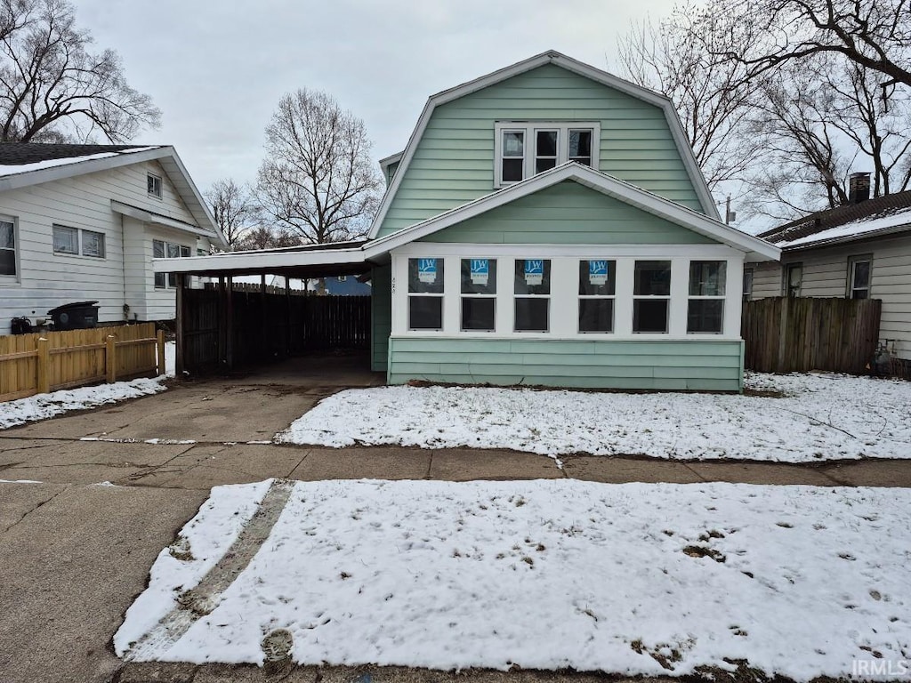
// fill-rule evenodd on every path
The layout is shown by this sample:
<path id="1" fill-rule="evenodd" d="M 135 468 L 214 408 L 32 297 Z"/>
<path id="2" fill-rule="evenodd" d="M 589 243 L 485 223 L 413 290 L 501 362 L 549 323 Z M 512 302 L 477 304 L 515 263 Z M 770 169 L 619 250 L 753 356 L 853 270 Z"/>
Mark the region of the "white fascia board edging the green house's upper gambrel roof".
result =
<path id="1" fill-rule="evenodd" d="M 493 73 L 487 74 L 486 76 L 481 76 L 480 78 L 468 81 L 462 85 L 451 87 L 448 90 L 436 93 L 427 99 L 424 110 L 421 112 L 421 117 L 419 117 L 417 120 L 417 126 L 415 126 L 415 130 L 412 132 L 411 137 L 408 138 L 408 145 L 402 152 L 402 157 L 399 162 L 399 169 L 396 171 L 395 178 L 393 178 L 392 184 L 384 194 L 383 201 L 380 203 L 380 208 L 376 212 L 376 217 L 374 218 L 373 225 L 371 225 L 370 232 L 367 235 L 368 239 L 373 240 L 376 237 L 376 234 L 379 232 L 380 226 L 383 224 L 386 213 L 392 204 L 395 193 L 398 191 L 399 185 L 401 185 L 405 171 L 411 164 L 411 159 L 415 156 L 417 142 L 424 136 L 424 131 L 437 105 L 444 105 L 447 102 L 458 99 L 459 97 L 465 97 L 466 95 L 470 95 L 477 90 L 494 86 L 497 83 L 507 80 L 508 78 L 524 74 L 527 71 L 531 71 L 538 66 L 544 66 L 546 64 L 555 64 L 557 66 L 561 66 L 568 71 L 577 73 L 579 76 L 585 76 L 597 83 L 601 83 L 602 85 L 613 87 L 622 93 L 630 95 L 630 97 L 636 97 L 644 102 L 648 102 L 651 105 L 660 107 L 664 113 L 665 119 L 667 120 L 668 127 L 670 127 L 670 134 L 674 138 L 674 143 L 676 144 L 677 149 L 681 154 L 681 158 L 683 159 L 683 166 L 686 168 L 687 174 L 689 175 L 693 184 L 693 188 L 696 190 L 696 194 L 699 197 L 702 209 L 710 218 L 720 218 L 718 207 L 715 206 L 715 200 L 711 197 L 709 186 L 705 182 L 705 177 L 702 175 L 701 168 L 699 168 L 699 164 L 696 162 L 696 158 L 692 153 L 690 143 L 686 138 L 686 134 L 683 132 L 680 118 L 677 116 L 677 110 L 674 108 L 673 103 L 668 97 L 665 97 L 660 93 L 655 92 L 654 90 L 650 90 L 647 87 L 637 86 L 635 83 L 630 83 L 630 81 L 619 78 L 618 76 L 614 76 L 613 74 L 609 74 L 607 71 L 602 71 L 601 69 L 595 68 L 594 66 L 589 66 L 588 64 L 579 62 L 578 60 L 563 55 L 556 50 L 548 50 L 548 52 L 529 57 L 528 59 L 517 62 L 514 65 L 498 69 Z"/>

